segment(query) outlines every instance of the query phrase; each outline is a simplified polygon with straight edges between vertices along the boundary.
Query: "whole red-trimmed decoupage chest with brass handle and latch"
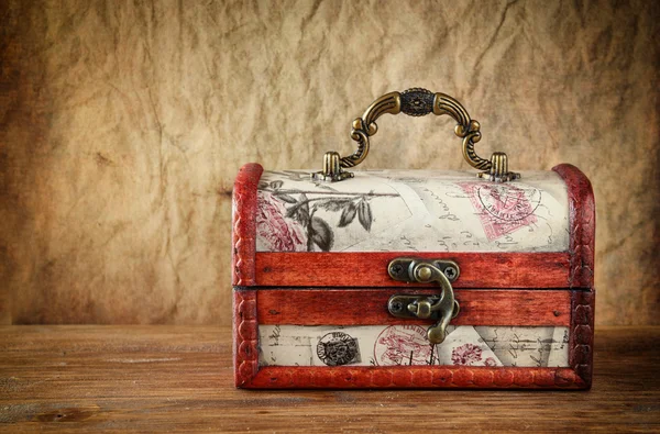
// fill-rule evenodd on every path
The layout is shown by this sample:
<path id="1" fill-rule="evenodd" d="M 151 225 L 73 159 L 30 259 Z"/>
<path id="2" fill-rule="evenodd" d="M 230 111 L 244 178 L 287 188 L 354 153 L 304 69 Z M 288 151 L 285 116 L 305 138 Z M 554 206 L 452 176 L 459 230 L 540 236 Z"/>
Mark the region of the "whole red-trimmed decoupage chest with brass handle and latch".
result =
<path id="1" fill-rule="evenodd" d="M 399 112 L 452 116 L 482 171 L 352 170 L 376 119 Z M 319 173 L 237 177 L 235 386 L 590 388 L 588 179 L 481 158 L 479 122 L 419 88 L 374 101 L 351 137 L 358 151 L 327 153 Z"/>

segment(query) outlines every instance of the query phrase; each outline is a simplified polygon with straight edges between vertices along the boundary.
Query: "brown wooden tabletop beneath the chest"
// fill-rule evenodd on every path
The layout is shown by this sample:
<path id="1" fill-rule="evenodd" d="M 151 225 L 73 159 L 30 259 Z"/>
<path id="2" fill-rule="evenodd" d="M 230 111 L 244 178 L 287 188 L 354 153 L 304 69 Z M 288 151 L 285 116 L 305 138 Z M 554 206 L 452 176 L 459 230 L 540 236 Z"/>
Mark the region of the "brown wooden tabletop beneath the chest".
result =
<path id="1" fill-rule="evenodd" d="M 231 329 L 0 327 L 0 430 L 660 431 L 660 327 L 597 327 L 591 391 L 248 391 Z"/>

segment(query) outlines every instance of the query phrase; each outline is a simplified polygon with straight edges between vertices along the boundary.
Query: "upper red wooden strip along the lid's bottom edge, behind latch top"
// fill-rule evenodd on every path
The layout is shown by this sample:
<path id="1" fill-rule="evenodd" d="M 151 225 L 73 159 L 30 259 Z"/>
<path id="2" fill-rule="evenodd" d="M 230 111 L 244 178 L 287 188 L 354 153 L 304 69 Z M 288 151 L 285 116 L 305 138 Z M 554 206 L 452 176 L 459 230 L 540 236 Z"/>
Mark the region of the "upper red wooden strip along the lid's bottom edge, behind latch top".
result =
<path id="1" fill-rule="evenodd" d="M 451 259 L 454 288 L 565 288 L 568 253 L 257 253 L 255 285 L 273 287 L 399 287 L 387 275 L 397 257 Z M 405 285 L 405 283 L 403 283 Z M 411 283 L 420 287 L 419 283 Z M 427 285 L 432 287 L 433 285 Z"/>

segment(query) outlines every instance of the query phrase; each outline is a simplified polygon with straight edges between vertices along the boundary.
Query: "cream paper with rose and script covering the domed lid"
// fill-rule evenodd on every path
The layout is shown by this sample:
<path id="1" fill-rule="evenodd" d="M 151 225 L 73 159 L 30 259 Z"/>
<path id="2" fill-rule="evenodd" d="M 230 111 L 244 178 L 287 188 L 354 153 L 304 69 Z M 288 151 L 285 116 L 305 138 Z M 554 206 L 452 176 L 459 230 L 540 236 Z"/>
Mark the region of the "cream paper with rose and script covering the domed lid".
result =
<path id="1" fill-rule="evenodd" d="M 367 170 L 350 182 L 264 171 L 257 252 L 563 252 L 566 188 L 553 171 L 506 183 L 474 174 Z"/>

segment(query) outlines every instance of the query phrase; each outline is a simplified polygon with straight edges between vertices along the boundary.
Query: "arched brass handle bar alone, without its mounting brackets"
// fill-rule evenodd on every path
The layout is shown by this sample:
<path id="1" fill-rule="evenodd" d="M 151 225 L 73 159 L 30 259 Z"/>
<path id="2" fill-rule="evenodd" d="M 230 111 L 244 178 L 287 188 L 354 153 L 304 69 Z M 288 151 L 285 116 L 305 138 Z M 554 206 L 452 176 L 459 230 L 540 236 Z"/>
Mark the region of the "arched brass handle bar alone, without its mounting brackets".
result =
<path id="1" fill-rule="evenodd" d="M 355 167 L 366 158 L 370 137 L 378 131 L 376 120 L 385 113 L 398 114 L 404 112 L 410 116 L 424 116 L 429 113 L 437 115 L 449 114 L 458 122 L 454 133 L 463 138 L 463 157 L 475 169 L 487 170 L 492 164 L 476 155 L 474 144 L 482 135 L 481 125 L 470 119 L 465 108 L 454 98 L 444 93 L 433 93 L 422 88 L 413 88 L 403 92 L 389 92 L 366 109 L 362 118 L 353 121 L 351 138 L 358 142 L 358 149 L 348 157 L 341 158 L 344 168 Z"/>

